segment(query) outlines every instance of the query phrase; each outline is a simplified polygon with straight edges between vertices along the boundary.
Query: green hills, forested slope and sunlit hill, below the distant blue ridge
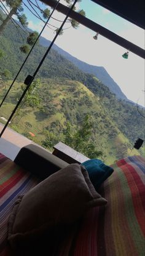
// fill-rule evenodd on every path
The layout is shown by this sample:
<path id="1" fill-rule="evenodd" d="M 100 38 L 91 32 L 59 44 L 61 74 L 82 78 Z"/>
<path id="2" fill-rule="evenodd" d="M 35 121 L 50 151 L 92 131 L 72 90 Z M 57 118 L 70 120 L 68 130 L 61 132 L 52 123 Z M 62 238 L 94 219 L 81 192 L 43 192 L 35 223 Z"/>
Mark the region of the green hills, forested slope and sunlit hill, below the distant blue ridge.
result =
<path id="1" fill-rule="evenodd" d="M 25 33 L 23 37 L 26 40 Z M 4 86 L 0 88 L 2 100 L 26 56 L 20 52 L 22 39 L 11 24 L 1 36 L 0 45 L 4 52 L 0 58 L 0 75 L 4 79 Z M 34 73 L 46 49 L 39 44 L 34 47 L 6 102 L 0 108 L 0 117 L 9 118 L 24 90 L 25 77 Z M 53 49 L 37 78 L 41 82 L 27 96 L 27 103 L 26 98 L 22 102 L 10 123 L 12 129 L 42 146 L 49 140 L 51 143 L 48 146 L 52 150 L 55 143 L 65 140 L 68 122 L 73 133 L 89 114 L 92 122 L 89 141 L 95 145 L 95 150 L 102 151 L 101 159 L 111 164 L 128 154 L 143 154 L 143 146 L 139 151 L 131 151 L 138 137 L 144 139 L 143 117 L 135 105 L 118 100 L 99 79 L 83 73 Z M 144 115 L 143 108 L 139 112 Z M 4 119 L 1 118 L 1 122 Z M 31 137 L 29 132 L 35 136 Z"/>

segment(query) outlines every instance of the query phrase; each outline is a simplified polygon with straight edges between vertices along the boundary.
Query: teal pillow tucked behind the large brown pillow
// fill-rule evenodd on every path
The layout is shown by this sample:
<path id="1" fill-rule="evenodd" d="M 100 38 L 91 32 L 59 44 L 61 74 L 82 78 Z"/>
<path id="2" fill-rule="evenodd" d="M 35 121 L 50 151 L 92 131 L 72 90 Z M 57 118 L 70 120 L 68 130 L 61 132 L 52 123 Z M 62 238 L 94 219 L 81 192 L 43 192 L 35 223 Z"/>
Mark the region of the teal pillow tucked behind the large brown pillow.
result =
<path id="1" fill-rule="evenodd" d="M 114 171 L 112 167 L 106 166 L 100 159 L 87 160 L 82 163 L 82 166 L 87 170 L 95 190 L 98 190 L 104 180 L 106 180 Z"/>

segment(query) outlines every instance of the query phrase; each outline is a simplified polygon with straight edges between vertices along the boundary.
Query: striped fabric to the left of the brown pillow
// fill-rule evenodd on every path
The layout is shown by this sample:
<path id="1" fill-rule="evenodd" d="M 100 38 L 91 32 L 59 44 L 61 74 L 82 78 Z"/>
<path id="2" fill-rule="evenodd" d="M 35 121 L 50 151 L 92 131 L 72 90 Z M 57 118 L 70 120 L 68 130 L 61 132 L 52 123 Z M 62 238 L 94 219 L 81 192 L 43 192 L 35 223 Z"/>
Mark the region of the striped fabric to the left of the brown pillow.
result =
<path id="1" fill-rule="evenodd" d="M 15 200 L 38 182 L 36 177 L 0 154 L 0 256 L 9 255 L 7 221 Z"/>

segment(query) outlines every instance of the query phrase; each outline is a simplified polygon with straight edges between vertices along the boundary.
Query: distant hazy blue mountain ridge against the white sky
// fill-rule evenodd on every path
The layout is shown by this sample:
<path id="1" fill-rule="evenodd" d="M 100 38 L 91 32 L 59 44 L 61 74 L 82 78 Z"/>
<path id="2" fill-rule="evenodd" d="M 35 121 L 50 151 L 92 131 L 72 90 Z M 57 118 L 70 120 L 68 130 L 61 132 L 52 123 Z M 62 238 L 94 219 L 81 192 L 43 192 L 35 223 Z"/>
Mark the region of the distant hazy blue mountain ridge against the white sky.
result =
<path id="1" fill-rule="evenodd" d="M 50 44 L 50 41 L 41 37 L 40 38 L 40 44 L 42 46 L 48 47 Z M 125 94 L 123 94 L 120 87 L 117 85 L 117 83 L 111 78 L 111 76 L 108 74 L 108 72 L 103 68 L 103 66 L 93 66 L 90 64 L 87 64 L 85 62 L 82 62 L 81 60 L 78 60 L 77 58 L 73 57 L 71 54 L 68 54 L 65 50 L 58 47 L 56 44 L 53 44 L 52 47 L 54 50 L 57 50 L 57 52 L 61 55 L 63 55 L 67 60 L 72 62 L 77 68 L 84 71 L 85 73 L 93 74 L 98 78 L 105 86 L 107 86 L 113 94 L 116 94 L 117 98 L 121 98 L 122 100 L 128 100 Z"/>

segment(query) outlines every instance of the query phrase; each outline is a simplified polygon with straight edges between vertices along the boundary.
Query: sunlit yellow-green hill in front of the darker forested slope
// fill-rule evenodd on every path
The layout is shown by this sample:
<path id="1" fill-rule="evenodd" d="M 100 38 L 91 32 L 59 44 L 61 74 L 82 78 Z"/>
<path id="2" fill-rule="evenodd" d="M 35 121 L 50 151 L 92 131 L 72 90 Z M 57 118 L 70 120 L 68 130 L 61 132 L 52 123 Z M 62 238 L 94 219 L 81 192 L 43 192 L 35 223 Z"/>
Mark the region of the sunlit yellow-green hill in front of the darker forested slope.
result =
<path id="1" fill-rule="evenodd" d="M 16 99 L 22 84 L 19 82 L 15 84 L 7 102 L 0 109 L 1 116 L 9 117 L 14 108 L 14 102 L 17 102 Z M 2 92 L 5 90 L 3 89 Z M 84 84 L 64 79 L 43 79 L 36 90 L 39 91 L 39 96 L 42 98 L 41 107 L 31 108 L 22 103 L 10 124 L 10 127 L 20 134 L 42 145 L 47 132 L 49 132 L 52 145 L 55 145 L 64 140 L 68 121 L 71 123 L 72 129 L 75 130 L 80 126 L 84 116 L 89 114 L 93 122 L 91 140 L 95 143 L 96 149 L 103 152 L 100 159 L 111 164 L 116 159 L 127 156 L 130 152 L 139 154 L 137 150 L 131 151 L 133 146 L 131 139 L 119 129 L 119 125 L 111 117 L 111 113 L 109 113 L 111 111 L 108 111 L 102 99 L 93 94 Z M 35 136 L 32 138 L 29 132 Z M 52 147 L 49 150 L 52 150 Z"/>

